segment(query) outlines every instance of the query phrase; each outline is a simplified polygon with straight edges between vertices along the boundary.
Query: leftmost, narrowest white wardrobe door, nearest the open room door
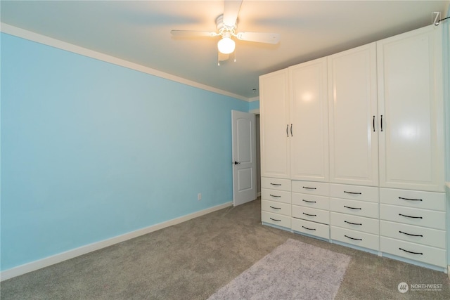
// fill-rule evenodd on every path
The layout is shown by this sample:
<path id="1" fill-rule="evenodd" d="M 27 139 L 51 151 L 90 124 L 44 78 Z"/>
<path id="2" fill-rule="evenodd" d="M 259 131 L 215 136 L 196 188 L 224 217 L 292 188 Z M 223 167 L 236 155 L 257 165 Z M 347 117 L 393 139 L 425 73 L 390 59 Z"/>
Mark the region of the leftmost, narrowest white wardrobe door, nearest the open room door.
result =
<path id="1" fill-rule="evenodd" d="M 259 77 L 263 177 L 290 178 L 288 92 L 288 69 Z"/>

